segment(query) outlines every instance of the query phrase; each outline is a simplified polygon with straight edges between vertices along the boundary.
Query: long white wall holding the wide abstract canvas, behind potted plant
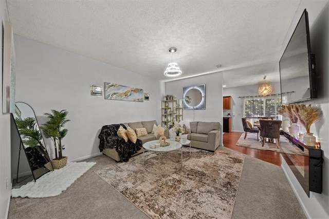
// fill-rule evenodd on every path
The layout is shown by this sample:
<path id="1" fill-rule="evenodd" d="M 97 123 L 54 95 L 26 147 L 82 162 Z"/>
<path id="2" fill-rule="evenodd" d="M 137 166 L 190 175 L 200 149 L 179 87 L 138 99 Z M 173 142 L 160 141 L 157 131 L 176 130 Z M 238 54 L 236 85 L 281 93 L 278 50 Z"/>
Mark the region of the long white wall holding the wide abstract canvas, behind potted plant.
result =
<path id="1" fill-rule="evenodd" d="M 103 125 L 157 120 L 160 122 L 160 82 L 134 72 L 79 56 L 14 35 L 16 48 L 16 101 L 28 103 L 41 125 L 44 113 L 66 109 L 69 121 L 64 156 L 78 160 L 100 153 L 98 134 Z M 162 72 L 160 73 L 162 74 Z M 105 100 L 90 96 L 90 84 L 113 82 L 143 88 L 144 102 Z M 49 139 L 45 139 L 54 157 Z"/>

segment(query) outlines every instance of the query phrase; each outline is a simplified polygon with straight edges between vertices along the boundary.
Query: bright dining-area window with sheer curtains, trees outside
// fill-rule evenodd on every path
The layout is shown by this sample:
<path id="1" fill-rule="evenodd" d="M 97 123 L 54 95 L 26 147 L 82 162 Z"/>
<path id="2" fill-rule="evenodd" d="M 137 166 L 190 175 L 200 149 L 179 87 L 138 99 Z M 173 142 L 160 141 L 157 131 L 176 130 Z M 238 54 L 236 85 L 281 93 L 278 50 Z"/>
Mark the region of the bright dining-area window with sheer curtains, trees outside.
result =
<path id="1" fill-rule="evenodd" d="M 258 117 L 273 117 L 278 119 L 278 109 L 281 106 L 281 95 L 243 97 L 243 117 L 254 122 Z"/>

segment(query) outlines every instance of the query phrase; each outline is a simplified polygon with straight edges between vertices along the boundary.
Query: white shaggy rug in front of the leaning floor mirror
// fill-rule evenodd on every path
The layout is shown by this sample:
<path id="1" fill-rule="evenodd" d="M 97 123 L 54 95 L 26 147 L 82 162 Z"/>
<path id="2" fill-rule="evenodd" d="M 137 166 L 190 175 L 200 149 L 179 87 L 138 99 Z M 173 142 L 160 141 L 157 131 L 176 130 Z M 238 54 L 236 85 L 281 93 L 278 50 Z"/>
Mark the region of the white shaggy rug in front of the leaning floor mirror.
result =
<path id="1" fill-rule="evenodd" d="M 64 168 L 46 173 L 19 189 L 11 190 L 11 197 L 43 198 L 57 196 L 65 191 L 96 162 L 67 162 Z"/>

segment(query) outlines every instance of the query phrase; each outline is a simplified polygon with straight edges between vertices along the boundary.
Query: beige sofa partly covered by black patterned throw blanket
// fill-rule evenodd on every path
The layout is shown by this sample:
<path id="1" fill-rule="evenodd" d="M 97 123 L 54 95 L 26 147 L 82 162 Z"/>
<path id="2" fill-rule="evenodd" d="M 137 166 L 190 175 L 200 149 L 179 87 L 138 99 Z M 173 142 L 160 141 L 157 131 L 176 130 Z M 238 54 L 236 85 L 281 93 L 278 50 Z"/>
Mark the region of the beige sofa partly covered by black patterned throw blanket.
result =
<path id="1" fill-rule="evenodd" d="M 137 139 L 141 140 L 142 144 L 151 140 L 156 140 L 159 139 L 160 135 L 155 136 L 152 133 L 152 129 L 153 129 L 153 125 L 156 124 L 158 125 L 158 123 L 156 122 L 156 120 L 152 120 L 152 121 L 140 121 L 140 122 L 125 122 L 123 123 L 126 127 L 129 126 L 131 127 L 133 130 L 136 130 L 136 128 L 141 128 L 141 127 L 145 127 L 145 129 L 148 132 L 148 135 L 145 136 L 140 136 Z M 168 138 L 169 137 L 169 129 L 165 129 L 165 136 Z M 141 148 L 141 150 L 137 151 L 137 153 L 133 154 L 133 156 L 143 153 L 144 149 Z M 111 157 L 112 159 L 116 160 L 116 161 L 120 161 L 120 157 L 118 152 L 116 151 L 115 148 L 109 149 L 109 148 L 105 148 L 102 151 L 103 154 Z"/>

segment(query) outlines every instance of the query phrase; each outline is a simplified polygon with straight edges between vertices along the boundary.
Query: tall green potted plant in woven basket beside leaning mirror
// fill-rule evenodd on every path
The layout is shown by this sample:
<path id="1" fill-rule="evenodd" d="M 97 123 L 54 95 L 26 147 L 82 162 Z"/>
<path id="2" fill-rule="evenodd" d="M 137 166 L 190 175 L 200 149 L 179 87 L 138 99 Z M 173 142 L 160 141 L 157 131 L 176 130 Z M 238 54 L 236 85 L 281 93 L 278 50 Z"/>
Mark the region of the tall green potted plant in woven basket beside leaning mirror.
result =
<path id="1" fill-rule="evenodd" d="M 67 117 L 66 109 L 56 111 L 51 109 L 51 113 L 44 115 L 49 119 L 42 127 L 46 138 L 50 138 L 54 144 L 55 158 L 51 160 L 54 169 L 60 169 L 66 166 L 67 157 L 62 154 L 62 139 L 66 136 L 68 130 L 64 129 L 65 124 L 70 121 Z M 64 146 L 64 145 L 63 145 Z"/>

